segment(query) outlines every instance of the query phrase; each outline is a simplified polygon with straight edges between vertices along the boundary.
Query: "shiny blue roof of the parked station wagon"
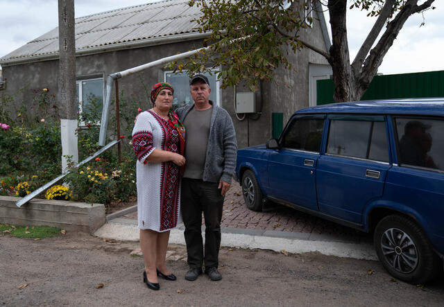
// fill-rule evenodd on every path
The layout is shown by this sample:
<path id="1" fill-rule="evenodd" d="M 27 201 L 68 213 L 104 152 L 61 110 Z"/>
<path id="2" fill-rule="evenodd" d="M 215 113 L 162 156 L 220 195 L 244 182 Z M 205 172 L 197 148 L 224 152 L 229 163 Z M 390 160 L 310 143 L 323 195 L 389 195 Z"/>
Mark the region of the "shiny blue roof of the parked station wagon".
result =
<path id="1" fill-rule="evenodd" d="M 362 100 L 350 103 L 330 103 L 300 109 L 306 113 L 365 113 L 365 114 L 421 114 L 444 116 L 444 98 L 404 98 Z"/>

